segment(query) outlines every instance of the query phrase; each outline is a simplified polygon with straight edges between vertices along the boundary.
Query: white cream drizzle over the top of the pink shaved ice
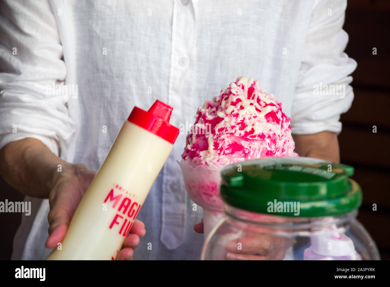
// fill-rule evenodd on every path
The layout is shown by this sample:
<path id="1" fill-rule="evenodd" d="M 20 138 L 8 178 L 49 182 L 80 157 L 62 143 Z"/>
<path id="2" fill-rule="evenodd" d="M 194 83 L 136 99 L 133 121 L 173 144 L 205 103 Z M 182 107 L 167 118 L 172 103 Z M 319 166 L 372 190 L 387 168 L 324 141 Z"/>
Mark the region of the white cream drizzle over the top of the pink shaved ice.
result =
<path id="1" fill-rule="evenodd" d="M 254 99 L 250 100 L 247 98 L 247 94 L 248 89 L 252 86 L 253 83 Z M 243 85 L 243 89 L 241 85 Z M 227 97 L 227 95 L 229 95 L 229 97 Z M 238 99 L 240 99 L 241 102 L 238 102 Z M 260 104 L 257 103 L 257 99 L 260 99 Z M 237 104 L 235 106 L 231 105 L 232 102 L 235 102 Z M 265 106 L 269 103 L 274 103 L 275 106 Z M 228 160 L 223 159 L 223 157 L 219 155 L 219 151 L 214 150 L 215 139 L 218 139 L 219 141 L 218 147 L 226 147 L 230 143 L 234 143 L 237 137 L 242 137 L 245 133 L 250 132 L 252 129 L 254 129 L 253 135 L 265 134 L 266 137 L 268 135 L 271 135 L 273 137 L 277 136 L 278 139 L 283 139 L 282 142 L 277 143 L 280 144 L 280 146 L 283 146 L 285 142 L 289 143 L 289 141 L 291 141 L 293 145 L 291 131 L 287 130 L 288 123 L 284 122 L 279 123 L 278 125 L 277 123 L 268 122 L 264 118 L 266 114 L 274 111 L 281 121 L 282 110 L 279 109 L 278 103 L 280 103 L 278 98 L 273 94 L 268 94 L 266 90 L 261 90 L 259 88 L 258 80 L 255 80 L 252 77 L 249 78 L 249 80 L 246 77 L 238 77 L 236 83 L 231 83 L 228 89 L 221 89 L 221 94 L 218 96 L 214 96 L 213 101 L 207 100 L 206 102 L 204 102 L 203 107 L 198 108 L 195 118 L 197 118 L 200 113 L 207 120 L 212 120 L 216 116 L 223 120 L 220 121 L 220 123 L 218 123 L 217 125 L 215 125 L 215 127 L 211 127 L 211 130 L 213 130 L 214 135 L 210 135 L 207 138 L 208 149 L 199 151 L 199 155 L 202 159 L 202 162 L 208 162 L 209 165 L 213 165 L 211 164 L 213 162 Z M 243 109 L 240 110 L 241 106 L 243 106 Z M 261 112 L 256 111 L 256 108 L 259 109 Z M 235 117 L 232 114 L 238 114 L 238 116 Z M 245 123 L 245 128 L 243 130 L 239 130 L 242 121 L 244 121 Z M 205 128 L 205 124 L 202 117 L 199 119 L 199 122 L 195 124 L 195 126 L 195 128 L 199 127 L 198 130 L 200 130 L 200 128 Z M 218 132 L 218 130 L 221 128 L 222 131 Z M 193 134 L 190 138 L 191 143 L 195 143 L 196 141 L 195 134 Z M 235 137 L 232 135 L 234 135 Z M 246 152 L 252 152 L 254 157 L 259 157 L 259 153 L 262 150 L 261 148 L 259 148 L 260 146 L 266 146 L 267 148 L 270 148 L 270 142 L 267 138 L 264 139 L 264 141 L 257 141 L 255 146 L 252 146 L 252 141 L 250 141 L 250 137 L 248 137 L 247 139 L 248 140 L 243 140 L 239 143 L 243 144 L 243 148 L 246 150 Z M 191 149 L 191 143 L 187 145 L 188 149 Z M 293 150 L 291 150 L 291 153 L 292 152 Z M 235 157 L 235 162 L 237 162 L 237 159 L 238 158 Z M 244 160 L 244 158 L 242 160 Z"/>

